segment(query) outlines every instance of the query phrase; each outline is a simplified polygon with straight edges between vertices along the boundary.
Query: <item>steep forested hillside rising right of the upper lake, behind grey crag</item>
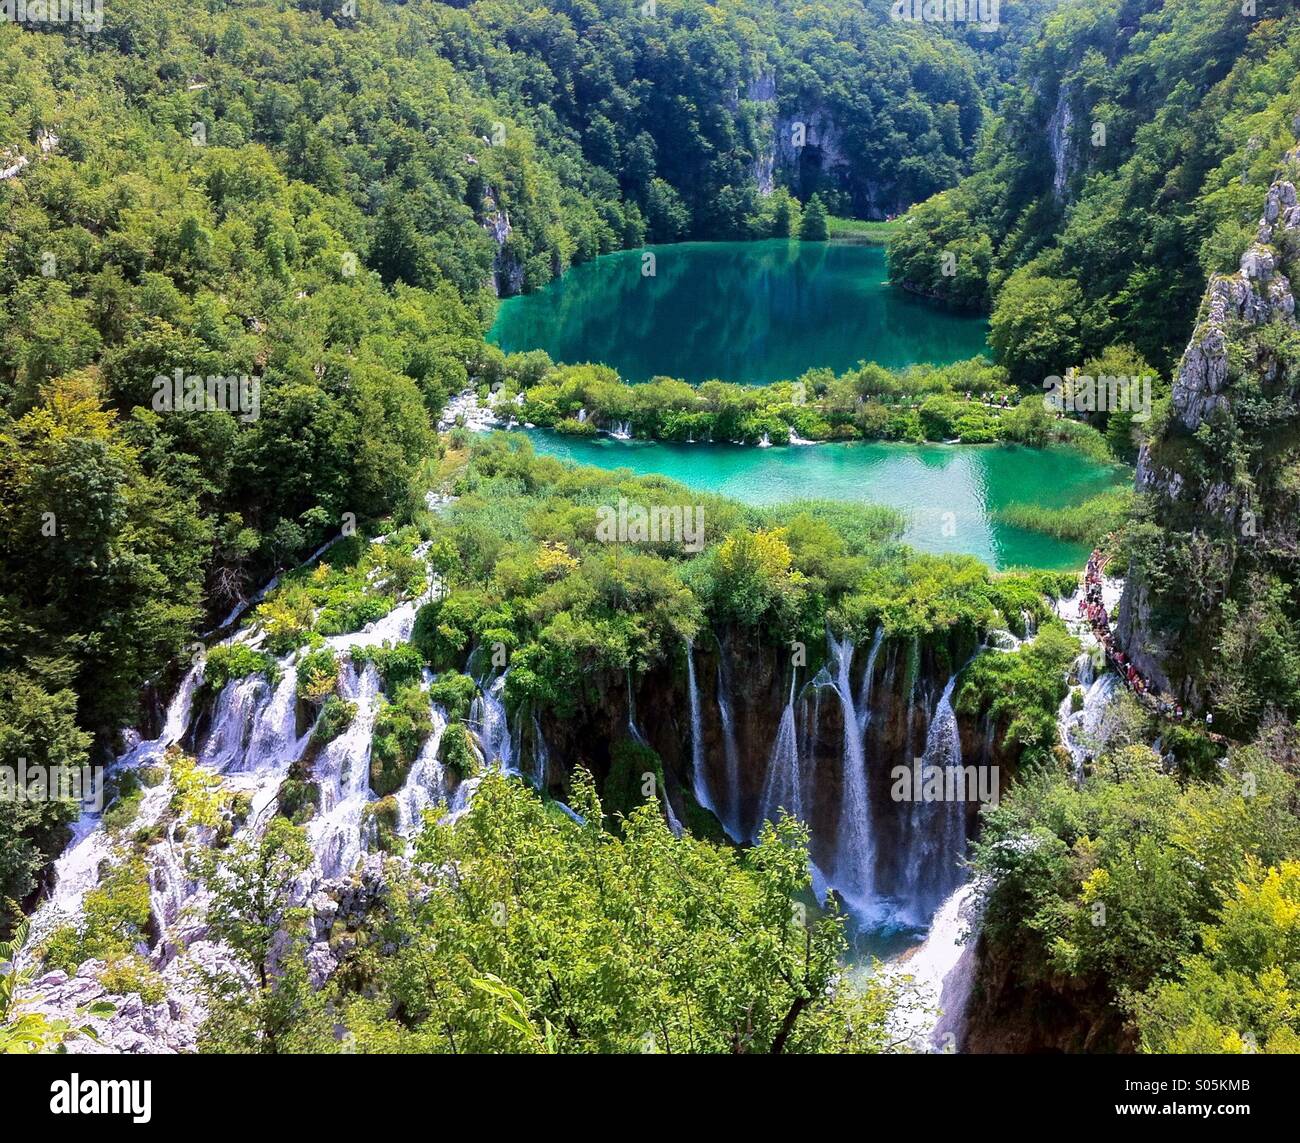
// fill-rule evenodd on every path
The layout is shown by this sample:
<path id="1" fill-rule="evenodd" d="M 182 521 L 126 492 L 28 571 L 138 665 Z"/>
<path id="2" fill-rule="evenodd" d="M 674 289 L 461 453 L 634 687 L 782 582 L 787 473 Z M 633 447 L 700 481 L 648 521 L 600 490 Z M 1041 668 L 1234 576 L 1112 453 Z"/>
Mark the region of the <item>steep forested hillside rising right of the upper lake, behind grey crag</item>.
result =
<path id="1" fill-rule="evenodd" d="M 1117 342 L 1167 372 L 1205 276 L 1235 268 L 1295 139 L 1296 20 L 1290 0 L 1063 5 L 1026 48 L 975 172 L 910 213 L 892 278 L 989 308 L 1017 381 Z"/>

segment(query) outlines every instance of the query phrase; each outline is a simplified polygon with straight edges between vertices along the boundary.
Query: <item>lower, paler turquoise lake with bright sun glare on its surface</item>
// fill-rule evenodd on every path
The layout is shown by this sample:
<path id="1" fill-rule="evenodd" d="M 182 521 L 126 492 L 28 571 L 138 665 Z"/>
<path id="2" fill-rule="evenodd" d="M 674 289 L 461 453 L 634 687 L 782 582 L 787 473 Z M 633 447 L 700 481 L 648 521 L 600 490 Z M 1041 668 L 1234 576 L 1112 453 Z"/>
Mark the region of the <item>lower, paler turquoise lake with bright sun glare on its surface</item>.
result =
<path id="1" fill-rule="evenodd" d="M 840 499 L 888 505 L 907 514 L 905 540 L 920 551 L 968 553 L 994 568 L 1083 567 L 1088 550 L 1011 528 L 996 512 L 1013 503 L 1076 505 L 1132 480 L 1070 449 L 1015 445 L 811 445 L 748 449 L 563 437 L 532 430 L 538 453 L 656 472 L 690 488 L 750 505 Z"/>

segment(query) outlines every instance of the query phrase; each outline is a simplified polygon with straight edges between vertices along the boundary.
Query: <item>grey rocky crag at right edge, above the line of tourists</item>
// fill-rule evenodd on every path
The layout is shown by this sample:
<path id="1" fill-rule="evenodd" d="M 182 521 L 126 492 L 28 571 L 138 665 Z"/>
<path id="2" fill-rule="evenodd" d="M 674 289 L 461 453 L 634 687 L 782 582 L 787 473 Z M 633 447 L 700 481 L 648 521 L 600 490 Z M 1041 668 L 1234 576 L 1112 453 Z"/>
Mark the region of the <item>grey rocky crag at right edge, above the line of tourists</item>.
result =
<path id="1" fill-rule="evenodd" d="M 1300 166 L 1300 148 L 1287 166 Z M 1295 576 L 1300 363 L 1287 269 L 1300 255 L 1300 202 L 1292 178 L 1269 189 L 1239 269 L 1210 278 L 1170 415 L 1138 462 L 1164 551 L 1131 563 L 1119 640 L 1139 670 L 1193 709 L 1212 701 L 1205 677 L 1225 603 L 1247 601 L 1252 584 Z"/>

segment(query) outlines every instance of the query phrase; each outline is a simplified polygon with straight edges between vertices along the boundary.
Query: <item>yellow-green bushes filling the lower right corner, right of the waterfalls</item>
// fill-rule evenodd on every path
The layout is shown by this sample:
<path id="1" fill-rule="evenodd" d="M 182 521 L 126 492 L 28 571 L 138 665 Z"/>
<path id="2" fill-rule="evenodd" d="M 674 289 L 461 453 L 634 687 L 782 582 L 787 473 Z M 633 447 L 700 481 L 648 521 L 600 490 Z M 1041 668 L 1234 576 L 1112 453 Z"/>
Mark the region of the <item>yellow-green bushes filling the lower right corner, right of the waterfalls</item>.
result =
<path id="1" fill-rule="evenodd" d="M 1144 1051 L 1294 1051 L 1294 758 L 1275 731 L 1188 779 L 1121 736 L 1082 788 L 1023 775 L 975 848 L 984 934 L 1015 951 L 1018 987 L 1106 997 Z"/>

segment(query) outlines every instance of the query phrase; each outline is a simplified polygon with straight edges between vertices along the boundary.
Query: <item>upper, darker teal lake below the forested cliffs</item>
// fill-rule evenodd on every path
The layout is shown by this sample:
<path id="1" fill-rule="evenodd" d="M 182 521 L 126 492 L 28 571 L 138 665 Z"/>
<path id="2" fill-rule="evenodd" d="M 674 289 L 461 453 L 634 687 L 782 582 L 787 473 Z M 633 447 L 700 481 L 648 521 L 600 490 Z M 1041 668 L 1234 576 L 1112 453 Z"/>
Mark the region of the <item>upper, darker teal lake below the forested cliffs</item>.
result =
<path id="1" fill-rule="evenodd" d="M 642 274 L 642 256 L 655 274 Z M 861 360 L 946 364 L 985 348 L 987 322 L 885 282 L 884 250 L 841 242 L 682 242 L 603 255 L 508 298 L 488 337 L 507 352 L 599 361 L 628 381 L 789 381 Z"/>

